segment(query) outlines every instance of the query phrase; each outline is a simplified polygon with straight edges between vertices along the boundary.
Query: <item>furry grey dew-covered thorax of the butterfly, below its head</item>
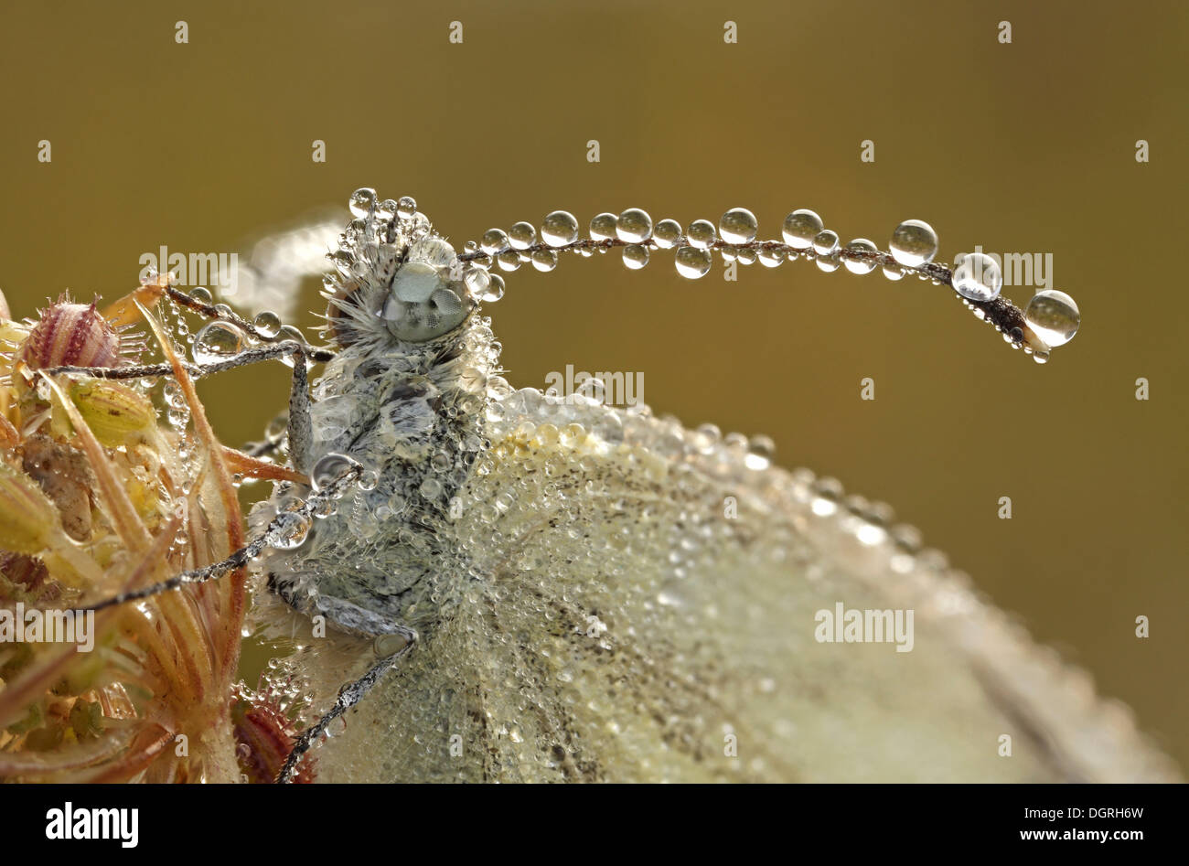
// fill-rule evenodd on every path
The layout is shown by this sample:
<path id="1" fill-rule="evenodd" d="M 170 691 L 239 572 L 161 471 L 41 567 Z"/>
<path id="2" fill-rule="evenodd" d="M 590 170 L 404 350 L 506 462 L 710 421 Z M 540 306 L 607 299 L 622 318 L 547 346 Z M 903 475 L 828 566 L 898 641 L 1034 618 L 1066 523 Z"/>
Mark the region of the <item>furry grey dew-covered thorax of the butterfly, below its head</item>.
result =
<path id="1" fill-rule="evenodd" d="M 347 454 L 376 484 L 351 488 L 301 547 L 269 554 L 269 585 L 290 605 L 365 634 L 424 633 L 440 620 L 466 573 L 452 522 L 486 446 L 496 346 L 490 320 L 472 315 L 438 340 L 359 344 L 327 364 L 313 389 L 310 456 Z M 263 516 L 295 494 L 308 490 L 278 490 Z"/>

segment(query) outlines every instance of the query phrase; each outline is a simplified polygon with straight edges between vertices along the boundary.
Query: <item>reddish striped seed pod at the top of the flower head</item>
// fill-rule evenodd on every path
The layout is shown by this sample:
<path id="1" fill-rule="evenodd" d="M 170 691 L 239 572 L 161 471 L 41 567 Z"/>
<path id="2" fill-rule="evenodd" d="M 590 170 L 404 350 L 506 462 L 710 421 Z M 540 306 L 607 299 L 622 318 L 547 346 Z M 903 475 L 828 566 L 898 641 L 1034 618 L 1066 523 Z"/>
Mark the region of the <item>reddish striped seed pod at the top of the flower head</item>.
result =
<path id="1" fill-rule="evenodd" d="M 48 366 L 115 366 L 120 335 L 95 309 L 65 297 L 50 305 L 21 344 L 18 358 L 34 370 Z"/>

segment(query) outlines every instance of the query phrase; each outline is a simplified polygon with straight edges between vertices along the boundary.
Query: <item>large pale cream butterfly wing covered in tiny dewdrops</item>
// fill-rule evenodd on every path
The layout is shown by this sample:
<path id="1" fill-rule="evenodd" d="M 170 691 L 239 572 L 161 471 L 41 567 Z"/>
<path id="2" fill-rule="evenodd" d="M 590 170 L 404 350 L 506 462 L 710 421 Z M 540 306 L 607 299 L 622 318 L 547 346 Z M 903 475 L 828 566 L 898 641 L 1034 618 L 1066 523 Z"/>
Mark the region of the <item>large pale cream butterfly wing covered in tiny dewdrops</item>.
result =
<path id="1" fill-rule="evenodd" d="M 326 778 L 1176 777 L 1126 708 L 829 484 L 581 399 L 527 389 L 492 418 L 459 596 Z M 893 611 L 885 638 L 913 611 L 911 650 L 822 640 L 839 603 Z"/>

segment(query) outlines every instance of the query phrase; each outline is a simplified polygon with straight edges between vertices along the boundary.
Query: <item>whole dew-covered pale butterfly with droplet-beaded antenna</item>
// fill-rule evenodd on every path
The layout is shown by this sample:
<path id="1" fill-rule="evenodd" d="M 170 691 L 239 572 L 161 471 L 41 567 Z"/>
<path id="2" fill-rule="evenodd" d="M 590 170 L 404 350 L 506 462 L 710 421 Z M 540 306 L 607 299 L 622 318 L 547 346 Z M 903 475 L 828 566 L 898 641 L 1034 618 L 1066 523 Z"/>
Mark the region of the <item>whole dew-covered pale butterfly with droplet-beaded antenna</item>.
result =
<path id="1" fill-rule="evenodd" d="M 778 467 L 763 438 L 516 389 L 482 314 L 497 265 L 609 249 L 633 266 L 675 247 L 690 277 L 713 253 L 914 272 L 1038 360 L 1076 330 L 1071 299 L 1018 309 L 994 263 L 935 264 L 916 220 L 888 253 L 841 247 L 809 211 L 784 243 L 755 240 L 741 208 L 718 232 L 600 214 L 587 239 L 555 212 L 542 240 L 517 224 L 458 253 L 411 199 L 361 189 L 350 207 L 328 349 L 170 289 L 260 346 L 222 366 L 294 369 L 284 441 L 308 483 L 253 509 L 235 560 L 253 561 L 256 622 L 284 646 L 270 683 L 308 703 L 282 780 L 308 754 L 327 782 L 1176 778 L 1126 708 L 885 507 Z M 221 345 L 208 337 L 196 349 Z M 312 387 L 307 362 L 325 363 Z"/>

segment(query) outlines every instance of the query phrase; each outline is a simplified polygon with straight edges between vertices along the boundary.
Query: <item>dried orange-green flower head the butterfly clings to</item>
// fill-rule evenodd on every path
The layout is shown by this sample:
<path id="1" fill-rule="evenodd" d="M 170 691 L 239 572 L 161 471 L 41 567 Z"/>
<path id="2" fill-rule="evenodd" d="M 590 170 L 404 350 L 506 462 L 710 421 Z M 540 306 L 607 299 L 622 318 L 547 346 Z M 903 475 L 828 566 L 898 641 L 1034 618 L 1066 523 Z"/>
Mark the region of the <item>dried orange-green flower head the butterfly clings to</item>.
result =
<path id="1" fill-rule="evenodd" d="M 141 306 L 155 303 L 164 285 L 146 283 L 102 313 L 67 297 L 25 322 L 2 308 L 0 628 L 73 615 L 82 634 L 88 603 L 243 544 L 232 456 Z M 168 423 L 137 385 L 45 372 L 132 363 L 143 346 L 128 328 L 141 314 L 174 364 L 169 384 L 190 428 Z M 234 471 L 244 466 L 235 463 Z M 244 592 L 244 576 L 234 572 L 216 584 L 90 611 L 87 641 L 0 642 L 0 778 L 243 778 L 232 685 Z M 237 699 L 249 702 L 251 694 Z M 271 718 L 265 710 L 240 715 Z M 251 751 L 247 758 L 254 760 Z"/>

